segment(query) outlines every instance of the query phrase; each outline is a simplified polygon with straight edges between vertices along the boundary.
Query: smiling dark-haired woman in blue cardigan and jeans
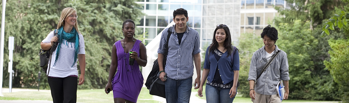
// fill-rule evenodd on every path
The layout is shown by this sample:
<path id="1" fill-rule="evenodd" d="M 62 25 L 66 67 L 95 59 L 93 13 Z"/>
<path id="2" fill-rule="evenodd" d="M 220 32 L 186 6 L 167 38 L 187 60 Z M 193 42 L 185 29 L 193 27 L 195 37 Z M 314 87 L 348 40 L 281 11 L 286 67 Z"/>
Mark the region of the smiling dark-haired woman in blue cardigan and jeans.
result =
<path id="1" fill-rule="evenodd" d="M 203 68 L 198 95 L 203 96 L 202 86 L 207 79 L 207 103 L 232 103 L 239 86 L 240 65 L 239 52 L 231 45 L 231 35 L 227 25 L 217 25 L 212 43 L 206 50 Z"/>

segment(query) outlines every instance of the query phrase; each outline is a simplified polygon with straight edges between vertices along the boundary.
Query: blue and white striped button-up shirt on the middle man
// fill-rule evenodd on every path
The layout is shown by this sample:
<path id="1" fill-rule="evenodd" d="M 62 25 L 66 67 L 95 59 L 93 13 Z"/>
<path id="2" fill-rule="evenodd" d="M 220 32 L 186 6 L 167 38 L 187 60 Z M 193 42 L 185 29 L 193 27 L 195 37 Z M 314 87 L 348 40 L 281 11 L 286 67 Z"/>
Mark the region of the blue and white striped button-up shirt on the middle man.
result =
<path id="1" fill-rule="evenodd" d="M 200 37 L 198 31 L 186 26 L 187 29 L 183 34 L 180 45 L 178 36 L 173 26 L 172 34 L 169 39 L 169 50 L 166 60 L 165 72 L 171 79 L 187 79 L 194 74 L 194 55 L 200 53 Z M 166 28 L 161 34 L 161 41 L 157 53 L 164 54 L 165 43 L 168 29 Z"/>

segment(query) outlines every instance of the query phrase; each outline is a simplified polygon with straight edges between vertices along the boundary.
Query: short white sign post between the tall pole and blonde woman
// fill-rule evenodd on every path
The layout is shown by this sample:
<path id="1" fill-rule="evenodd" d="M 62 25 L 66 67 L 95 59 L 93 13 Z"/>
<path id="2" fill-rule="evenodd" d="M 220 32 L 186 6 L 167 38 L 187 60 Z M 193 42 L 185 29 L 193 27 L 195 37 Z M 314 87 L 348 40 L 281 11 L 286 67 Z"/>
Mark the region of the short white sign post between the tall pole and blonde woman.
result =
<path id="1" fill-rule="evenodd" d="M 8 59 L 10 62 L 8 62 L 8 72 L 10 73 L 9 75 L 9 89 L 10 93 L 12 92 L 12 59 L 13 59 L 13 48 L 14 48 L 14 42 L 15 42 L 15 37 L 10 36 L 8 37 Z"/>

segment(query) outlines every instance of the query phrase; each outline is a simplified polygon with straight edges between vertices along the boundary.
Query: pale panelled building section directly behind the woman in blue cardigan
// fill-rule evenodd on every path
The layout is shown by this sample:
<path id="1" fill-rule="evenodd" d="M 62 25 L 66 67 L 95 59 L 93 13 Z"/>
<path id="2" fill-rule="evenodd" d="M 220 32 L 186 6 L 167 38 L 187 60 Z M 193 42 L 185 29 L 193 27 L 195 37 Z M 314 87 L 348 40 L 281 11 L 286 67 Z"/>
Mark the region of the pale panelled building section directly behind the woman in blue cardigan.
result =
<path id="1" fill-rule="evenodd" d="M 202 6 L 201 44 L 211 44 L 218 24 L 227 25 L 232 41 L 237 42 L 237 37 L 240 36 L 240 0 L 203 0 Z"/>

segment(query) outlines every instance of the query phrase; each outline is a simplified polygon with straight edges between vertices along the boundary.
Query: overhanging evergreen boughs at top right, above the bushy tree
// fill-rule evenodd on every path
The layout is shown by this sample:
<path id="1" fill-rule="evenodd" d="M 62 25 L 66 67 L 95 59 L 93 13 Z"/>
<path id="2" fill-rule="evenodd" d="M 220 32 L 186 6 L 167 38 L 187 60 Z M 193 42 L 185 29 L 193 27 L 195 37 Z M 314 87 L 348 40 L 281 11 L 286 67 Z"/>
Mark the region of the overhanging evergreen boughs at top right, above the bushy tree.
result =
<path id="1" fill-rule="evenodd" d="M 275 7 L 275 9 L 284 15 L 283 23 L 292 24 L 294 20 L 301 20 L 302 24 L 310 21 L 310 29 L 324 23 L 322 20 L 330 18 L 333 15 L 334 9 L 346 8 L 347 0 L 285 0 L 290 5 L 290 8 Z M 278 23 L 276 23 L 278 24 Z"/>

